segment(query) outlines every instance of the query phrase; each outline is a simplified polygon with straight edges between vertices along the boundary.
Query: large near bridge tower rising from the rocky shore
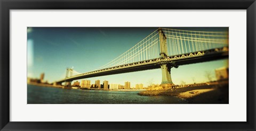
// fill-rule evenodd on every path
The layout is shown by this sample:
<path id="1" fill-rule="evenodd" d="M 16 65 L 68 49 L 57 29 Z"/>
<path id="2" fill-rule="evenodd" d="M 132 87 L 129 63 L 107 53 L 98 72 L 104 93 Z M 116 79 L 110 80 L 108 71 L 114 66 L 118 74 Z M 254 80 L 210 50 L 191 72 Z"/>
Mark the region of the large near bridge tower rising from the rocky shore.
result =
<path id="1" fill-rule="evenodd" d="M 166 36 L 162 30 L 162 28 L 158 29 L 159 32 L 159 42 L 160 42 L 160 56 L 162 59 L 167 57 L 167 42 L 166 42 Z M 175 67 L 178 68 L 177 65 L 173 62 L 160 62 L 158 65 L 161 66 L 162 69 L 162 86 L 172 86 L 174 85 L 171 78 L 171 68 Z"/>

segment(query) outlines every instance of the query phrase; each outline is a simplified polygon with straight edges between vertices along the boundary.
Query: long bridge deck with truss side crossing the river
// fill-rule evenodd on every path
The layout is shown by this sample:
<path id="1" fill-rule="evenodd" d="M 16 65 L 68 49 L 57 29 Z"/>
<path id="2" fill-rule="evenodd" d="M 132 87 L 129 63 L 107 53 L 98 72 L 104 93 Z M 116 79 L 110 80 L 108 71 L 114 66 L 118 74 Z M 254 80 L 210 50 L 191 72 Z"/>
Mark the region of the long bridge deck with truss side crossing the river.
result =
<path id="1" fill-rule="evenodd" d="M 165 58 L 150 59 L 142 62 L 136 62 L 136 63 L 126 64 L 126 65 L 109 67 L 105 69 L 99 69 L 97 71 L 92 71 L 92 72 L 71 76 L 63 80 L 57 81 L 56 83 L 69 82 L 69 81 L 79 80 L 82 78 L 121 74 L 121 73 L 127 73 L 127 72 L 137 72 L 137 71 L 144 71 L 147 69 L 156 69 L 156 68 L 160 68 L 159 63 L 161 62 L 172 62 L 172 63 L 175 63 L 175 65 L 202 63 L 202 62 L 207 62 L 211 60 L 228 58 L 228 54 L 229 54 L 228 47 L 197 51 L 194 53 L 174 55 L 174 56 L 169 56 Z"/>

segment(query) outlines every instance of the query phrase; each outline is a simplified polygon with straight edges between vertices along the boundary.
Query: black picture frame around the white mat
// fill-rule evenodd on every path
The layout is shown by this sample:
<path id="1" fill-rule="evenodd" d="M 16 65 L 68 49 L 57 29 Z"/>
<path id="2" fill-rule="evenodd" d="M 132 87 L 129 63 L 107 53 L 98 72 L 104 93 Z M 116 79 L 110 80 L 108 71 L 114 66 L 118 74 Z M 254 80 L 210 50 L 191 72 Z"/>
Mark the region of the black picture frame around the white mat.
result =
<path id="1" fill-rule="evenodd" d="M 255 0 L 0 0 L 1 130 L 255 130 Z M 206 9 L 246 10 L 246 122 L 12 122 L 10 121 L 10 10 Z"/>

